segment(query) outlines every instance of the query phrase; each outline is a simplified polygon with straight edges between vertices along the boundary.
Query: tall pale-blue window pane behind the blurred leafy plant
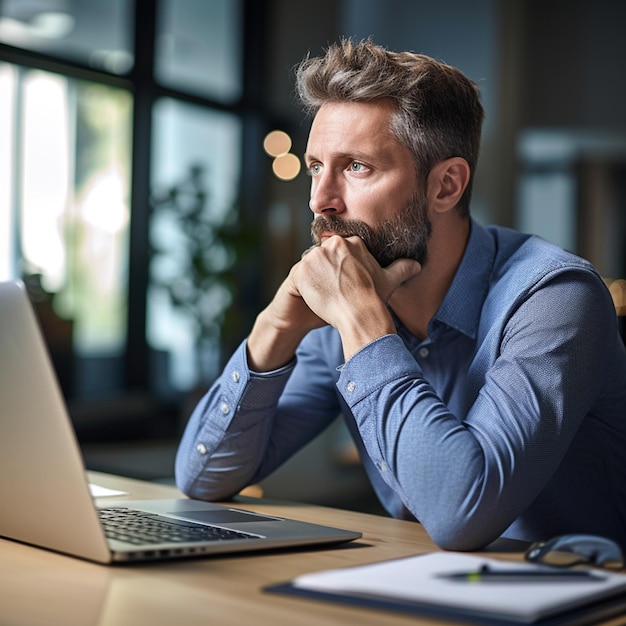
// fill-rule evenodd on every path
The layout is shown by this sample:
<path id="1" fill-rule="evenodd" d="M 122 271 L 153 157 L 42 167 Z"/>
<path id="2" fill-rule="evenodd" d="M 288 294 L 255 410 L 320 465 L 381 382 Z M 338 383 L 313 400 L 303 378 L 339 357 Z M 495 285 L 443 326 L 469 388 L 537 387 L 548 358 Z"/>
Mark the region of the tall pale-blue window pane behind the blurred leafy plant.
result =
<path id="1" fill-rule="evenodd" d="M 230 295 L 205 272 L 227 262 L 219 258 L 224 250 L 214 228 L 236 213 L 240 145 L 241 123 L 230 113 L 170 99 L 155 106 L 152 191 L 157 208 L 150 235 L 156 254 L 151 263 L 148 338 L 152 348 L 169 355 L 168 378 L 179 390 L 218 373 L 216 325 Z M 168 200 L 172 190 L 173 202 L 158 202 Z M 194 232 L 198 218 L 204 226 L 200 235 Z M 194 243 L 200 248 L 195 256 Z M 197 267 L 200 262 L 204 271 Z M 196 269 L 200 271 L 194 274 Z M 172 296 L 178 306 L 173 306 Z"/>

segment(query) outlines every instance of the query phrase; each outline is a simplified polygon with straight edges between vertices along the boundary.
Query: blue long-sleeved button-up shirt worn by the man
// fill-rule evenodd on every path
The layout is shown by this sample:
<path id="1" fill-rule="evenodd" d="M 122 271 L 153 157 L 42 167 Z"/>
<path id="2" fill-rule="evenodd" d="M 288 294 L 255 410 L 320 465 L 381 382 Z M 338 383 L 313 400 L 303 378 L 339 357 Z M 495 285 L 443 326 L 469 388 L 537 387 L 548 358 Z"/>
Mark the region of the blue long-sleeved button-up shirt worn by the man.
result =
<path id="1" fill-rule="evenodd" d="M 428 338 L 396 326 L 346 363 L 318 329 L 264 374 L 244 342 L 189 420 L 179 488 L 230 497 L 341 413 L 382 504 L 442 548 L 568 532 L 626 546 L 626 352 L 589 263 L 472 221 Z"/>

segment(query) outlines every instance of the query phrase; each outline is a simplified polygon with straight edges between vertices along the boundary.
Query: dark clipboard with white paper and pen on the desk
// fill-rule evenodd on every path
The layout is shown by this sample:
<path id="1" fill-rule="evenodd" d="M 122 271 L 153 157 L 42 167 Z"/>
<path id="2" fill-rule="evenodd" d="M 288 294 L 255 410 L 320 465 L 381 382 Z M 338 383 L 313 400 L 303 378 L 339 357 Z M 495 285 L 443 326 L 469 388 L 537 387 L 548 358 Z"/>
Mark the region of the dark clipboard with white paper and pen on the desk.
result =
<path id="1" fill-rule="evenodd" d="M 484 568 L 491 576 L 472 574 Z M 626 574 L 459 552 L 307 573 L 266 591 L 480 626 L 582 626 L 626 611 Z"/>

